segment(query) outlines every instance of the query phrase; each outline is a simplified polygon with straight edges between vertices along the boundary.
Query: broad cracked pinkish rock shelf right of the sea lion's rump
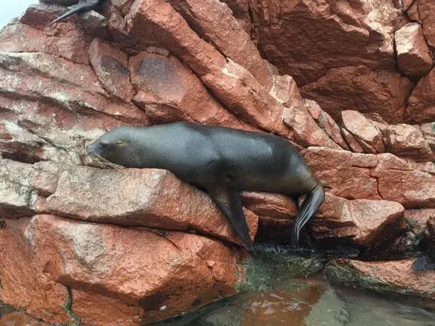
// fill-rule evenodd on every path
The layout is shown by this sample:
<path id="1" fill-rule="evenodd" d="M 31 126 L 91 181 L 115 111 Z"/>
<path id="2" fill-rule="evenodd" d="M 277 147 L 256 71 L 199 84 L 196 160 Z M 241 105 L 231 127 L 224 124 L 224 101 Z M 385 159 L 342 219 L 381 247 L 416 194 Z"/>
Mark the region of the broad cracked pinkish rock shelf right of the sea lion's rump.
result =
<path id="1" fill-rule="evenodd" d="M 331 193 L 348 199 L 397 201 L 406 208 L 434 207 L 435 175 L 392 154 L 357 154 L 310 147 L 303 155 Z"/>

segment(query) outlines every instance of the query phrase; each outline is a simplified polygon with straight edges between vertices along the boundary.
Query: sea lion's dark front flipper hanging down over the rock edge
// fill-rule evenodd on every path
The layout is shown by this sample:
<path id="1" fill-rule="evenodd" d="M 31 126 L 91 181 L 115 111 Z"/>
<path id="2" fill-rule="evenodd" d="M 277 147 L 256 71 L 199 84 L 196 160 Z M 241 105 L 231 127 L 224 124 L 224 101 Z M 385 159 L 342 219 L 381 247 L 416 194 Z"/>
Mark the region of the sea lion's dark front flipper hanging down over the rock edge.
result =
<path id="1" fill-rule="evenodd" d="M 231 223 L 240 240 L 246 245 L 246 248 L 255 253 L 254 244 L 250 240 L 245 214 L 243 214 L 240 193 L 228 189 L 226 186 L 207 187 L 207 191 L 216 203 L 216 206 L 222 210 L 227 220 Z"/>

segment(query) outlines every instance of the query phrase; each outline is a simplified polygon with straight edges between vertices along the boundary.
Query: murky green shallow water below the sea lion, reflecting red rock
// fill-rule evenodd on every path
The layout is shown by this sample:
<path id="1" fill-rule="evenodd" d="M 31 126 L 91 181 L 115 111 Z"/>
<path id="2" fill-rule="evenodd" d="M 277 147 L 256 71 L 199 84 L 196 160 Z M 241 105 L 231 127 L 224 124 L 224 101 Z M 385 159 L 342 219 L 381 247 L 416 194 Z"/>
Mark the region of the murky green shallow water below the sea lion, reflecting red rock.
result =
<path id="1" fill-rule="evenodd" d="M 319 273 L 324 262 L 293 256 L 283 247 L 263 247 L 258 259 L 244 263 L 247 281 L 238 296 L 153 325 L 435 326 L 434 302 L 331 286 Z M 7 323 L 0 318 L 0 326 L 37 324 L 10 317 Z"/>

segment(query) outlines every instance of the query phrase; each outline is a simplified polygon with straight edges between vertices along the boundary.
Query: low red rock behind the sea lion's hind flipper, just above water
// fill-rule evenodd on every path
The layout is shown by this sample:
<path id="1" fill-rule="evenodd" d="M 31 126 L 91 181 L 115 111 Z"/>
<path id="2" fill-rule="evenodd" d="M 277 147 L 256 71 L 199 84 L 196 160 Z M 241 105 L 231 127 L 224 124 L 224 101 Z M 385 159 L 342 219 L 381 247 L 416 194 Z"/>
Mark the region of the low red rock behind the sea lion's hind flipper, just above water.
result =
<path id="1" fill-rule="evenodd" d="M 258 215 L 264 240 L 290 240 L 295 204 L 285 196 L 243 193 L 243 204 Z M 373 247 L 391 242 L 404 230 L 404 208 L 393 201 L 348 201 L 326 193 L 324 202 L 310 220 L 313 235 L 319 242 L 347 241 Z"/>

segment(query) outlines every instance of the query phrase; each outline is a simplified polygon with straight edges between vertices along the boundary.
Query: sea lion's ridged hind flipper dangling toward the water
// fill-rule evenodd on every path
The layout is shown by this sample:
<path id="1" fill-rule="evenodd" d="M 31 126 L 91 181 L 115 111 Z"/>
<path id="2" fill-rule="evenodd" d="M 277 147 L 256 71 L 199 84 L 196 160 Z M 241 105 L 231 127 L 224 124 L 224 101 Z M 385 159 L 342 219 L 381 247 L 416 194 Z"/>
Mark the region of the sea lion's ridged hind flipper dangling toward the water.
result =
<path id="1" fill-rule="evenodd" d="M 301 209 L 294 219 L 293 224 L 293 235 L 292 235 L 292 249 L 296 249 L 297 243 L 299 242 L 299 232 L 302 227 L 308 222 L 314 213 L 316 213 L 317 208 L 323 203 L 325 198 L 325 191 L 321 184 L 307 193 L 302 202 Z"/>

